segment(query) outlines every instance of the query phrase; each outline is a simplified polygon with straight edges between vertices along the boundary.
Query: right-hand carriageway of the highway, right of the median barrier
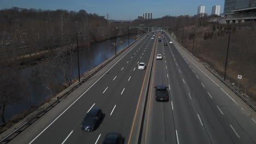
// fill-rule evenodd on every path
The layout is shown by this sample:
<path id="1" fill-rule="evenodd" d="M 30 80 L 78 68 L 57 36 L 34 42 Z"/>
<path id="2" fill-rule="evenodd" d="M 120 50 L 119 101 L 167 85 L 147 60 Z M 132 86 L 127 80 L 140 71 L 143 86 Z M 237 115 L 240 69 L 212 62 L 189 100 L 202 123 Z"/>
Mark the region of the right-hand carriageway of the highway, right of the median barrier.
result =
<path id="1" fill-rule="evenodd" d="M 255 143 L 253 119 L 165 36 L 156 49 L 164 57 L 153 64 L 142 143 Z M 155 101 L 156 85 L 168 86 L 170 101 Z"/>

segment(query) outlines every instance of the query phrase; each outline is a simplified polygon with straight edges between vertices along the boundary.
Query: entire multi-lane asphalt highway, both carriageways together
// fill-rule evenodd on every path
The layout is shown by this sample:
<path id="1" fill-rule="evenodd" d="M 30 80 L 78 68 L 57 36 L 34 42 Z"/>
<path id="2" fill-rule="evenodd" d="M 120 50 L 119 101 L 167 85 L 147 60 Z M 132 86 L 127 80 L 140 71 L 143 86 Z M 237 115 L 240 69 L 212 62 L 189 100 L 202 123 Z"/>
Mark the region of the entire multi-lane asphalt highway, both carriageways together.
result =
<path id="1" fill-rule="evenodd" d="M 121 133 L 125 143 L 135 143 L 149 65 L 141 143 L 255 143 L 256 121 L 243 101 L 174 41 L 169 44 L 170 35 L 161 42 L 152 37 L 150 33 L 138 40 L 10 143 L 102 143 L 110 131 Z M 163 59 L 156 60 L 156 53 Z M 139 62 L 149 67 L 138 70 Z M 156 85 L 168 86 L 169 101 L 155 101 Z M 93 107 L 102 109 L 103 122 L 84 132 L 82 119 Z"/>

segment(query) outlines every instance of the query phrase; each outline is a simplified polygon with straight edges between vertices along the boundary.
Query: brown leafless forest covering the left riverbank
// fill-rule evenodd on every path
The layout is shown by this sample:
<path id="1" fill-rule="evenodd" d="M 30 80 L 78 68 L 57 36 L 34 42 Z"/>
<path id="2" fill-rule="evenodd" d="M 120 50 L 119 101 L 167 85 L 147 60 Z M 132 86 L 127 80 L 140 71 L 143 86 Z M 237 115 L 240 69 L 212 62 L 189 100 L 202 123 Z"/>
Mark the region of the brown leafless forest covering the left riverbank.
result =
<path id="1" fill-rule="evenodd" d="M 127 23 L 109 23 L 104 16 L 85 10 L 41 10 L 10 8 L 0 10 L 0 114 L 6 123 L 5 106 L 26 100 L 31 105 L 31 84 L 42 83 L 56 95 L 73 83 L 68 67 L 74 65 L 76 33 L 79 47 L 90 47 L 128 33 Z M 130 29 L 135 34 L 137 29 Z M 68 57 L 67 57 L 68 56 Z M 22 75 L 23 67 L 39 65 Z M 64 80 L 64 81 L 63 81 Z"/>

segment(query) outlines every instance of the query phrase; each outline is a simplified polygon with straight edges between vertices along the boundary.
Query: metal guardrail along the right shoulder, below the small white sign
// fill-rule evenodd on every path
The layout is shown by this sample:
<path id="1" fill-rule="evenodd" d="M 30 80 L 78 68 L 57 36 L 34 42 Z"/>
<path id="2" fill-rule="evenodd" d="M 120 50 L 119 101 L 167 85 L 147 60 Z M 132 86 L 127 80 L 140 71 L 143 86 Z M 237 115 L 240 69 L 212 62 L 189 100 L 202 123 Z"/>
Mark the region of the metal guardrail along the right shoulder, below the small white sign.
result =
<path id="1" fill-rule="evenodd" d="M 216 77 L 217 77 L 220 81 L 222 81 L 226 86 L 228 86 L 228 87 L 231 89 L 231 91 L 233 91 L 236 95 L 238 95 L 238 97 L 240 97 L 243 101 L 245 101 L 245 103 L 246 103 L 248 106 L 250 106 L 254 111 L 256 111 L 256 107 L 255 107 L 253 104 L 251 104 L 250 101 L 248 101 L 248 100 L 247 100 L 245 97 L 243 97 L 239 92 L 237 92 L 234 87 L 230 86 L 228 82 L 224 81 L 224 80 L 222 79 L 222 77 L 220 77 L 220 76 L 218 76 L 216 73 L 214 73 L 214 72 L 209 68 L 208 65 L 207 65 L 205 68 L 208 69 L 214 76 L 216 76 Z"/>

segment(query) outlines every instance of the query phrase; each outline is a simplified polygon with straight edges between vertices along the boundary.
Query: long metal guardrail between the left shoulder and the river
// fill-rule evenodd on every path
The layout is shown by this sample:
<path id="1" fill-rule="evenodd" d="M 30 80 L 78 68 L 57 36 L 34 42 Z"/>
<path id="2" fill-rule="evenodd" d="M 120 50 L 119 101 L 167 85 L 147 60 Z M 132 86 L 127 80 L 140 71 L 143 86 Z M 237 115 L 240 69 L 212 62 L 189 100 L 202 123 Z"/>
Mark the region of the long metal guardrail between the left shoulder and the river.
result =
<path id="1" fill-rule="evenodd" d="M 142 37 L 140 37 L 139 39 L 143 38 L 144 35 L 142 35 Z M 139 39 L 137 39 L 136 41 L 138 41 Z M 136 41 L 134 41 L 132 44 L 136 43 Z M 27 119 L 26 122 L 22 123 L 21 125 L 19 125 L 18 128 L 15 128 L 13 131 L 11 131 L 7 136 L 3 137 L 2 140 L 0 140 L 0 143 L 8 143 L 9 141 L 11 141 L 12 139 L 14 139 L 14 137 L 18 136 L 22 131 L 24 131 L 26 128 L 28 128 L 32 123 L 36 122 L 37 119 L 39 119 L 40 117 L 42 117 L 46 112 L 48 112 L 49 110 L 51 110 L 55 105 L 57 105 L 61 100 L 61 98 L 65 98 L 67 97 L 67 95 L 71 94 L 75 89 L 77 89 L 79 86 L 81 86 L 84 82 L 88 81 L 92 76 L 94 76 L 98 71 L 100 71 L 103 67 L 105 67 L 108 63 L 112 62 L 113 59 L 115 59 L 116 57 L 118 57 L 121 53 L 123 53 L 125 50 L 127 50 L 132 44 L 130 44 L 129 46 L 125 47 L 124 49 L 122 49 L 121 51 L 119 51 L 117 53 L 117 55 L 115 55 L 114 57 L 108 59 L 106 62 L 102 63 L 98 68 L 96 68 L 94 71 L 92 71 L 92 73 L 90 73 L 88 76 L 86 76 L 82 81 L 80 81 L 79 83 L 77 83 L 77 85 L 73 86 L 71 89 L 69 89 L 69 91 L 63 93 L 60 97 L 57 97 L 55 100 L 51 101 L 51 103 L 44 107 L 44 109 L 38 111 L 36 114 L 34 114 L 34 116 L 30 117 Z"/>

